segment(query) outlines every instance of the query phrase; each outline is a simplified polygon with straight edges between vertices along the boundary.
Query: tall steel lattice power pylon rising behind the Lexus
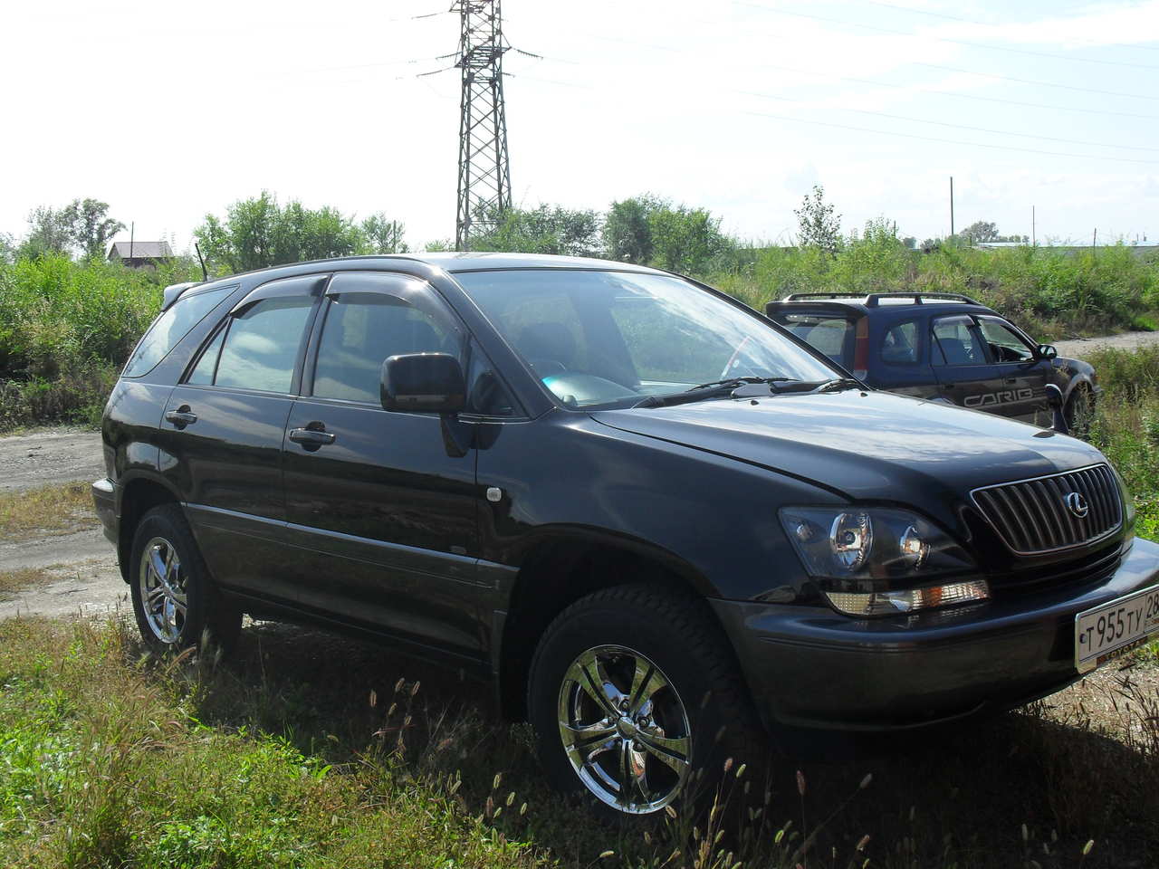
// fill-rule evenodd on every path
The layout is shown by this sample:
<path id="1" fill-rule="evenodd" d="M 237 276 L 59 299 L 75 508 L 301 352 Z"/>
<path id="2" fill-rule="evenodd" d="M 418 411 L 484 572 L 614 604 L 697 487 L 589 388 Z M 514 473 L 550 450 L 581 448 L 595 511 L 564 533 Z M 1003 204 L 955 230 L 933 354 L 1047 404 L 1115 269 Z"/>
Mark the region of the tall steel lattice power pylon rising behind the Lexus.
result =
<path id="1" fill-rule="evenodd" d="M 462 72 L 454 249 L 471 250 L 472 238 L 511 207 L 503 107 L 503 54 L 510 45 L 503 38 L 501 0 L 455 0 L 451 10 L 460 15 L 454 65 Z"/>

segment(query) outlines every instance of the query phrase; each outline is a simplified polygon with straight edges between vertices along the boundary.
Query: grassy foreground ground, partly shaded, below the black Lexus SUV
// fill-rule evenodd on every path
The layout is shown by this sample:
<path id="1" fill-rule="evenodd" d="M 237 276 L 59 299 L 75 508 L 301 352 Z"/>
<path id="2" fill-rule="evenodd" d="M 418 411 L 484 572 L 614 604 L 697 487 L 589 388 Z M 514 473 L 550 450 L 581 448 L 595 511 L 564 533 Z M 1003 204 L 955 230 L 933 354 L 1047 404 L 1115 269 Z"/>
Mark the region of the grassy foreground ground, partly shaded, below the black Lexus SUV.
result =
<path id="1" fill-rule="evenodd" d="M 482 713 L 480 688 L 380 649 L 258 625 L 232 663 L 155 662 L 117 620 L 15 620 L 0 863 L 1143 866 L 1159 848 L 1156 674 L 1109 673 L 968 733 L 824 759 L 806 745 L 767 777 L 737 764 L 728 787 L 751 812 L 621 825 L 547 791 L 526 729 Z"/>

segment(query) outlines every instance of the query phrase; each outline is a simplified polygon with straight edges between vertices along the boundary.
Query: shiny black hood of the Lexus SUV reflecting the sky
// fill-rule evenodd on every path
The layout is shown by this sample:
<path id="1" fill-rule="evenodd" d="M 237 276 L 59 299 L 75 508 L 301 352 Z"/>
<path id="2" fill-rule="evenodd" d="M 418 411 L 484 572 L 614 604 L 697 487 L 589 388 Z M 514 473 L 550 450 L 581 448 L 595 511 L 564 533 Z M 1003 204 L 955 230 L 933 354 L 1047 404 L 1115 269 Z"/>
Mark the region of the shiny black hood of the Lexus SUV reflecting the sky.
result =
<path id="1" fill-rule="evenodd" d="M 991 483 L 1106 461 L 1074 438 L 975 410 L 847 389 L 592 412 L 621 431 L 766 467 L 855 499 L 957 502 Z"/>

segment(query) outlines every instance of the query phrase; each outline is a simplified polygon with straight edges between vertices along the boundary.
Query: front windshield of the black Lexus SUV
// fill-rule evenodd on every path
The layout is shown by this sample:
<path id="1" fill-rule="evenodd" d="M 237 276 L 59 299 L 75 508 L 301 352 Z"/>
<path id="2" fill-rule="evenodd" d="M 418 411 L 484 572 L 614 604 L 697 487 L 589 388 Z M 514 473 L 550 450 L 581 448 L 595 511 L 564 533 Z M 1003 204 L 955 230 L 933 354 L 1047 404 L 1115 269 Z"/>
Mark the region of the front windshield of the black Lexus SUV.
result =
<path id="1" fill-rule="evenodd" d="M 455 279 L 564 404 L 630 404 L 726 378 L 840 373 L 757 317 L 679 278 L 537 269 Z"/>

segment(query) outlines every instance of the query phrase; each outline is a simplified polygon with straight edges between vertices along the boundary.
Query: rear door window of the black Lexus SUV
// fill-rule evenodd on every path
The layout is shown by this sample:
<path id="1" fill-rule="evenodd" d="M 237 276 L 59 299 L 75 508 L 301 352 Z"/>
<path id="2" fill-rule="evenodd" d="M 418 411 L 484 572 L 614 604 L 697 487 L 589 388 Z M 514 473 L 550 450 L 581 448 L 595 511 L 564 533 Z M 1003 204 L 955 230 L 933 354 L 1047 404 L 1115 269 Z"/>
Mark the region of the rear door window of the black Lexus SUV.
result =
<path id="1" fill-rule="evenodd" d="M 302 331 L 313 306 L 314 300 L 309 298 L 264 299 L 233 317 L 213 382 L 239 389 L 289 393 Z M 203 357 L 195 373 L 201 372 L 204 362 Z"/>

